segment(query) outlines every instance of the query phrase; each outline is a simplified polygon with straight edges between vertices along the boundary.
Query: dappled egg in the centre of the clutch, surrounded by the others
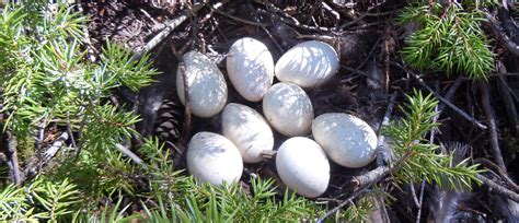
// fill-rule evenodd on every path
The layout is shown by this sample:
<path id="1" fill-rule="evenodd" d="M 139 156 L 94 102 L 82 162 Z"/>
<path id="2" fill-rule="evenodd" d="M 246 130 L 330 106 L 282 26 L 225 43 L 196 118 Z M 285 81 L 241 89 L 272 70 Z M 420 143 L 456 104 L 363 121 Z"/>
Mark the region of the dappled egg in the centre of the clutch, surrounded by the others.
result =
<path id="1" fill-rule="evenodd" d="M 263 114 L 272 127 L 285 136 L 301 137 L 311 130 L 312 102 L 293 83 L 280 82 L 268 89 L 263 97 Z"/>

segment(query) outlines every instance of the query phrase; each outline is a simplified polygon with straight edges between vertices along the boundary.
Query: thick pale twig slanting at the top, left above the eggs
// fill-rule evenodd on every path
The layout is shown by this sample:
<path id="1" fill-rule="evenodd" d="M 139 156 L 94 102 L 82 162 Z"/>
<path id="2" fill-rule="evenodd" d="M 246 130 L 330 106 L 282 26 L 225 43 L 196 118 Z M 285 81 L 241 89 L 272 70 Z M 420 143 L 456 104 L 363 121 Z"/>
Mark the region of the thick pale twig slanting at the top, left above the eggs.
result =
<path id="1" fill-rule="evenodd" d="M 198 10 L 201 9 L 201 7 L 203 7 L 201 4 L 195 4 L 195 5 L 193 5 L 192 10 L 194 12 L 197 12 Z M 153 38 L 151 38 L 145 46 L 140 47 L 139 49 L 137 49 L 135 51 L 135 55 L 136 55 L 135 58 L 136 59 L 140 58 L 145 54 L 147 54 L 151 49 L 153 49 L 159 43 L 161 43 L 165 37 L 168 37 L 171 32 L 173 32 L 178 25 L 184 23 L 191 15 L 192 15 L 192 13 L 189 12 L 189 10 L 184 10 L 181 13 L 181 15 L 178 15 L 177 17 L 175 17 L 171 21 L 168 21 L 164 24 L 164 28 L 159 34 L 153 36 Z"/>

